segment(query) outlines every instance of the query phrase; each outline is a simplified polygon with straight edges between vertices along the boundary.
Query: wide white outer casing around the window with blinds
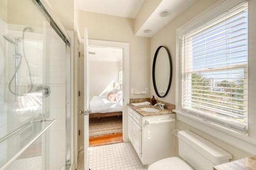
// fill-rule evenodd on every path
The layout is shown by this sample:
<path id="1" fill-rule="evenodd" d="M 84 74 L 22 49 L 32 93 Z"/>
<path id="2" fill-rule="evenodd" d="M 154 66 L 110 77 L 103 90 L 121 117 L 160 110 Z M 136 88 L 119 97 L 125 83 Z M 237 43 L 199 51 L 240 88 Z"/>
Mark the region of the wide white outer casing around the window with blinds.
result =
<path id="1" fill-rule="evenodd" d="M 181 61 L 181 37 L 185 35 L 187 32 L 196 29 L 198 26 L 201 26 L 203 23 L 211 20 L 212 18 L 220 15 L 221 13 L 225 12 L 226 10 L 230 9 L 230 7 L 237 6 L 245 1 L 242 0 L 221 0 L 211 6 L 210 8 L 203 11 L 201 14 L 199 14 L 197 17 L 191 19 L 185 25 L 177 29 L 177 49 L 176 49 L 176 110 L 174 112 L 177 113 L 177 119 L 181 122 L 184 122 L 194 128 L 197 128 L 206 134 L 209 134 L 211 136 L 214 136 L 222 141 L 225 141 L 234 147 L 240 148 L 247 153 L 250 154 L 256 154 L 256 133 L 251 134 L 250 133 L 250 121 L 249 117 L 250 112 L 248 108 L 248 130 L 247 134 L 241 134 L 236 131 L 233 131 L 231 129 L 227 129 L 222 126 L 218 126 L 217 124 L 213 124 L 212 122 L 207 122 L 205 119 L 202 119 L 198 116 L 194 116 L 193 114 L 190 114 L 187 111 L 182 110 L 182 91 L 181 91 L 181 85 L 182 85 L 182 61 Z M 249 5 L 248 4 L 248 23 L 250 22 L 250 13 L 249 13 Z M 249 30 L 249 28 L 248 28 Z M 249 39 L 249 36 L 248 36 Z M 248 43 L 248 53 L 250 50 L 250 43 Z M 248 54 L 249 57 L 249 54 Z M 248 67 L 249 67 L 249 59 L 248 59 Z M 249 76 L 249 69 L 248 69 L 248 78 Z M 248 86 L 250 85 L 249 79 L 248 79 Z M 250 89 L 249 89 L 250 90 Z M 255 91 L 255 90 L 254 90 Z M 249 94 L 249 92 L 248 92 Z M 249 100 L 250 95 L 248 95 Z M 253 115 L 254 118 L 256 118 L 255 115 Z M 254 132 L 254 131 L 253 131 Z M 251 137 L 253 136 L 253 137 Z"/>

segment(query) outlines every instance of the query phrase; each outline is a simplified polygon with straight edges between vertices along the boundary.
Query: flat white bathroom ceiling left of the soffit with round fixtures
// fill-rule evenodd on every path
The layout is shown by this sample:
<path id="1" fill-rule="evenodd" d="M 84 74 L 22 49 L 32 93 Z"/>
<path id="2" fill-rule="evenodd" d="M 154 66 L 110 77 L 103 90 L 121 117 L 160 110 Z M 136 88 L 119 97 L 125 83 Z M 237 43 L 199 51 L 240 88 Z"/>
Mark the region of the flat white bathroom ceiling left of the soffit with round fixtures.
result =
<path id="1" fill-rule="evenodd" d="M 135 18 L 145 0 L 78 0 L 79 10 Z"/>

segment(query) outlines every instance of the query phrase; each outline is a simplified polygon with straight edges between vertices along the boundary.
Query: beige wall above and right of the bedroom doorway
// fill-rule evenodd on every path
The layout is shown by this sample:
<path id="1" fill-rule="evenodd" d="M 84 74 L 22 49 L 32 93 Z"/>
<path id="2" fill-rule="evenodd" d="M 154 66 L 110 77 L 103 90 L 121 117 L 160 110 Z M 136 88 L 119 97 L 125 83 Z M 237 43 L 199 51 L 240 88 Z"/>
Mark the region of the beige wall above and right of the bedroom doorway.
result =
<path id="1" fill-rule="evenodd" d="M 150 87 L 150 39 L 136 37 L 134 19 L 79 11 L 79 31 L 88 28 L 89 39 L 130 43 L 130 88 L 144 91 Z M 148 98 L 149 94 L 130 94 L 130 98 Z"/>

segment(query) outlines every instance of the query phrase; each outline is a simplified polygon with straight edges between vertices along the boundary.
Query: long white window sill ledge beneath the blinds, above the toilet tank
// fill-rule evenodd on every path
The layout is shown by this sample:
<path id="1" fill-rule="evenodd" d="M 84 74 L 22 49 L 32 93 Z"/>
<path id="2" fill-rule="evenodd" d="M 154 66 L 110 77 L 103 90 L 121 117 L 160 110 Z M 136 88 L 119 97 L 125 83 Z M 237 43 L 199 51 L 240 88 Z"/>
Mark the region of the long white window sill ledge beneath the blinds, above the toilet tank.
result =
<path id="1" fill-rule="evenodd" d="M 256 155 L 256 140 L 250 138 L 248 135 L 243 135 L 220 126 L 204 122 L 202 119 L 196 116 L 183 113 L 178 110 L 173 111 L 177 113 L 177 119 L 181 122 L 199 129 L 221 141 L 224 141 L 233 147 L 243 150 L 249 154 Z"/>

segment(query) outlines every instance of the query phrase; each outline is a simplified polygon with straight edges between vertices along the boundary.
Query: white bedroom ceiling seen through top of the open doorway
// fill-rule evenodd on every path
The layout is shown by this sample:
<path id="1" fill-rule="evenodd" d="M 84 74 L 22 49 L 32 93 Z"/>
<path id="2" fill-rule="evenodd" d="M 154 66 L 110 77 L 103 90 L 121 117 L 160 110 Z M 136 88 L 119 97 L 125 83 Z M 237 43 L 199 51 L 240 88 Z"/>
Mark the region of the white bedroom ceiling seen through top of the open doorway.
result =
<path id="1" fill-rule="evenodd" d="M 95 54 L 92 54 L 95 53 Z M 119 62 L 123 57 L 123 50 L 118 48 L 89 46 L 90 61 Z"/>

